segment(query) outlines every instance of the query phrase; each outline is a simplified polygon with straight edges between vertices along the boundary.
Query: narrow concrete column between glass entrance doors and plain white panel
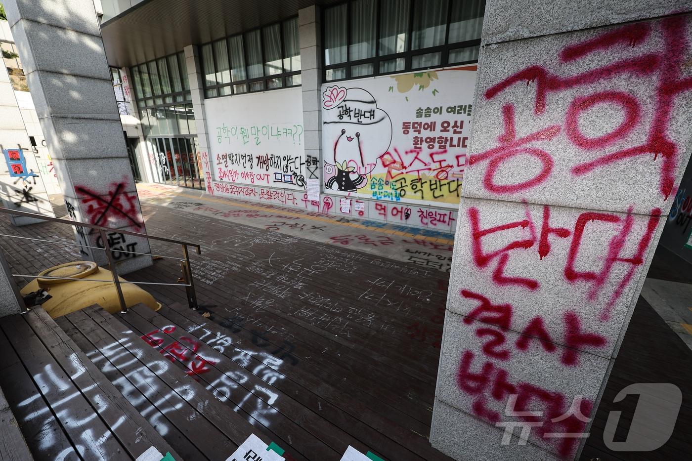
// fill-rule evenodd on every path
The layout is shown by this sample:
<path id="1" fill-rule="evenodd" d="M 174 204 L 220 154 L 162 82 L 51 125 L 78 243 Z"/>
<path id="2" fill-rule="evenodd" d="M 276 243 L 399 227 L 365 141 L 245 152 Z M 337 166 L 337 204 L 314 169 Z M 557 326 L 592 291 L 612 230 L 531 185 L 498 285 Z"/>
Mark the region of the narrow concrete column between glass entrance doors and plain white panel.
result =
<path id="1" fill-rule="evenodd" d="M 190 94 L 192 96 L 192 111 L 194 111 L 194 122 L 197 125 L 197 165 L 201 168 L 200 174 L 204 177 L 207 192 L 214 193 L 212 188 L 212 168 L 209 161 L 209 136 L 207 132 L 206 114 L 204 112 L 204 84 L 201 66 L 199 64 L 199 48 L 195 45 L 188 45 L 183 48 L 185 53 L 185 67 L 188 71 L 188 81 L 190 82 Z"/>

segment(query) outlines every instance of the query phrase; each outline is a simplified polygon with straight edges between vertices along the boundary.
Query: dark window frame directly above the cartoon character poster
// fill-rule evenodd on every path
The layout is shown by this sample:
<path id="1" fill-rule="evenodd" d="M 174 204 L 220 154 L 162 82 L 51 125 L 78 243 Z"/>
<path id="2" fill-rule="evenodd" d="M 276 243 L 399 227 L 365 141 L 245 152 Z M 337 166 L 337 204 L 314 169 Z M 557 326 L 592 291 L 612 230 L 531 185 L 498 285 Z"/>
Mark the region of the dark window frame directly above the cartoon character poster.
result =
<path id="1" fill-rule="evenodd" d="M 478 62 L 478 60 L 469 60 L 469 61 L 462 61 L 462 62 L 457 62 L 454 61 L 452 63 L 449 62 L 449 54 L 450 51 L 456 50 L 457 48 L 471 48 L 473 46 L 480 46 L 480 38 L 478 39 L 472 39 L 472 40 L 466 40 L 465 42 L 454 42 L 452 44 L 449 43 L 449 30 L 450 30 L 450 23 L 452 20 L 452 7 L 454 0 L 448 0 L 447 1 L 447 22 L 446 22 L 446 30 L 444 34 L 444 44 L 443 45 L 438 45 L 438 46 L 431 46 L 429 48 L 419 48 L 417 50 L 412 50 L 412 40 L 413 40 L 413 24 L 414 24 L 414 17 L 415 17 L 415 0 L 410 0 L 410 8 L 408 12 L 408 29 L 406 31 L 406 51 L 403 51 L 401 53 L 392 53 L 390 55 L 380 55 L 380 33 L 381 33 L 381 19 L 382 19 L 382 0 L 374 0 L 377 2 L 376 6 L 376 12 L 377 12 L 377 17 L 375 18 L 375 56 L 374 57 L 369 57 L 367 59 L 363 60 L 357 60 L 357 61 L 352 61 L 350 60 L 350 55 L 351 55 L 351 17 L 352 17 L 352 3 L 354 0 L 345 0 L 340 3 L 334 3 L 332 5 L 329 5 L 328 8 L 322 8 L 322 31 L 321 31 L 321 37 L 320 39 L 322 40 L 322 44 L 327 43 L 326 42 L 326 33 L 325 33 L 325 10 L 329 8 L 336 8 L 338 6 L 343 6 L 346 5 L 347 10 L 346 10 L 346 60 L 345 62 L 340 62 L 339 64 L 329 64 L 327 65 L 327 58 L 326 58 L 326 48 L 322 48 L 322 56 L 321 56 L 321 64 L 322 64 L 322 82 L 329 83 L 329 82 L 341 82 L 344 80 L 353 80 L 357 78 L 367 78 L 367 77 L 376 77 L 378 75 L 393 75 L 396 73 L 407 73 L 407 72 L 418 72 L 418 71 L 425 71 L 427 69 L 439 69 L 441 67 L 447 67 L 447 66 L 464 66 L 466 64 L 475 64 Z M 440 60 L 438 64 L 431 65 L 431 66 L 424 66 L 424 67 L 412 67 L 412 62 L 413 58 L 418 56 L 418 55 L 428 55 L 432 53 L 440 53 Z M 399 58 L 404 59 L 404 65 L 403 69 L 394 69 L 393 71 L 388 71 L 388 72 L 381 72 L 380 71 L 380 64 L 382 62 L 387 62 L 391 60 L 397 60 Z M 372 73 L 369 73 L 367 75 L 352 75 L 352 68 L 355 66 L 360 66 L 362 64 L 372 64 Z M 331 71 L 334 69 L 345 69 L 345 76 L 343 78 L 332 78 L 331 80 L 327 80 L 327 71 Z"/>

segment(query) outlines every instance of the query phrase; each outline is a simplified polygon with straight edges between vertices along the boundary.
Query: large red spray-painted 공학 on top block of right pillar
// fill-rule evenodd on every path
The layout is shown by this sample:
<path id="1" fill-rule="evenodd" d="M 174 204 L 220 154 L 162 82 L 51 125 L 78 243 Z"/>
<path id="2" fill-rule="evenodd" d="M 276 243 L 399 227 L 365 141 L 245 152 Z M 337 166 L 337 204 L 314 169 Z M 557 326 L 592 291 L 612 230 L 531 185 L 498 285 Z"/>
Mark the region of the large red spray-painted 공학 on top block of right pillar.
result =
<path id="1" fill-rule="evenodd" d="M 540 116 L 546 111 L 549 96 L 558 95 L 568 89 L 585 87 L 589 84 L 601 84 L 618 76 L 655 79 L 653 107 L 646 107 L 646 110 L 652 111 L 655 116 L 648 127 L 646 141 L 634 147 L 614 150 L 614 152 L 608 152 L 596 159 L 573 165 L 571 171 L 574 176 L 581 177 L 599 168 L 633 157 L 652 155 L 653 161 L 656 161 L 661 156 L 662 161 L 657 163 L 657 168 L 660 170 L 659 191 L 664 199 L 668 199 L 673 193 L 675 167 L 680 161 L 680 147 L 671 140 L 668 129 L 671 123 L 671 114 L 675 109 L 675 97 L 692 89 L 692 78 L 682 77 L 682 64 L 689 55 L 686 18 L 671 17 L 660 21 L 659 24 L 664 38 L 664 46 L 655 52 L 645 52 L 639 56 L 628 57 L 623 60 L 608 60 L 608 64 L 598 69 L 565 77 L 552 73 L 543 66 L 529 66 L 493 85 L 486 90 L 484 96 L 487 99 L 492 99 L 515 84 L 536 81 L 534 114 Z M 561 51 L 561 61 L 574 62 L 591 53 L 605 53 L 622 45 L 641 46 L 651 31 L 651 24 L 623 26 L 594 39 L 566 46 Z M 623 113 L 623 120 L 612 131 L 589 138 L 583 135 L 579 129 L 579 115 L 583 111 L 601 104 L 619 107 Z M 641 125 L 643 105 L 644 100 L 617 89 L 576 96 L 570 102 L 570 107 L 565 114 L 565 136 L 582 150 L 605 150 L 618 141 L 628 138 L 630 133 Z M 534 188 L 543 183 L 551 174 L 553 159 L 545 150 L 534 150 L 534 148 L 523 147 L 523 145 L 537 139 L 549 141 L 558 136 L 562 127 L 551 125 L 517 140 L 512 105 L 504 107 L 503 118 L 505 132 L 500 135 L 500 147 L 471 156 L 469 163 L 473 165 L 485 159 L 491 159 L 484 177 L 484 187 L 490 192 L 508 194 Z M 517 150 L 518 147 L 520 147 L 520 151 Z M 529 181 L 520 184 L 496 184 L 493 177 L 500 163 L 520 153 L 538 159 L 543 164 L 540 173 Z"/>

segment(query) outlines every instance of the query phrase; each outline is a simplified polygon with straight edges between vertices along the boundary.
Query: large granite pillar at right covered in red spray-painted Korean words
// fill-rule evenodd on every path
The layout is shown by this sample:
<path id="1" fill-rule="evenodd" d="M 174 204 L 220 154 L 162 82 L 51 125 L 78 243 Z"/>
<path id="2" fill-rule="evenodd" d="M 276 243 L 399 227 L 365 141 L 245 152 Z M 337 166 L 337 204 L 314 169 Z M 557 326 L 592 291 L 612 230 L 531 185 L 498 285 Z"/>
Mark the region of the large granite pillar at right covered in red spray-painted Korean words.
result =
<path id="1" fill-rule="evenodd" d="M 455 459 L 581 451 L 690 156 L 671 3 L 487 3 L 430 433 Z"/>

